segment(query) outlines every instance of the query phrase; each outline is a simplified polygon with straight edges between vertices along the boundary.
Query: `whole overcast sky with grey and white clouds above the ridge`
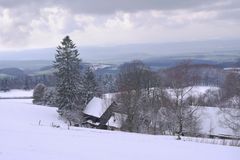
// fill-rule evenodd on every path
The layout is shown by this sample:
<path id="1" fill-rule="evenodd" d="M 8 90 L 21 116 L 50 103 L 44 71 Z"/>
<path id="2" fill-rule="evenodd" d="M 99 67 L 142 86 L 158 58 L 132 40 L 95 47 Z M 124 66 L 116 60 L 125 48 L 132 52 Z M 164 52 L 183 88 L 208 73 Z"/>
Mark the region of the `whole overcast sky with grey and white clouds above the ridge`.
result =
<path id="1" fill-rule="evenodd" d="M 240 39 L 240 0 L 0 0 L 0 50 Z"/>

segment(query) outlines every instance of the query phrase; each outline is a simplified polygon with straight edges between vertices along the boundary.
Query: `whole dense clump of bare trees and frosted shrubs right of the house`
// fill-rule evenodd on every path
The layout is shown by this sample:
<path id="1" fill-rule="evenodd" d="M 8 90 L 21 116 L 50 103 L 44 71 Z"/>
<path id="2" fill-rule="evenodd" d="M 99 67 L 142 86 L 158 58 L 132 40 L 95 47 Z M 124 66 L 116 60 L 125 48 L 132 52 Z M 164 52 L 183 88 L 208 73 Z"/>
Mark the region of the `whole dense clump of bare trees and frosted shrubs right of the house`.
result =
<path id="1" fill-rule="evenodd" d="M 141 61 L 133 61 L 120 67 L 117 82 L 120 104 L 128 115 L 123 130 L 150 134 L 164 134 L 169 130 L 171 125 L 166 125 L 161 108 L 169 111 L 167 106 L 171 101 L 159 75 Z"/>

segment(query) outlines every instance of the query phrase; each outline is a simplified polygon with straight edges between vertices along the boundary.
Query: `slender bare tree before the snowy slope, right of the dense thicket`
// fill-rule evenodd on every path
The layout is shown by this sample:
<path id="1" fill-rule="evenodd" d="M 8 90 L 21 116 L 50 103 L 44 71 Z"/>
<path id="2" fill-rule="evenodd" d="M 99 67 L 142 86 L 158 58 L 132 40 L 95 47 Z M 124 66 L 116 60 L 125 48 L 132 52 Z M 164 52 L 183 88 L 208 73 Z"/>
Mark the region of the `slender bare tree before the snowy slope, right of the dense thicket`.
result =
<path id="1" fill-rule="evenodd" d="M 198 107 L 192 107 L 188 103 L 188 97 L 194 86 L 196 75 L 190 72 L 190 63 L 184 62 L 167 73 L 172 97 L 172 122 L 176 127 L 174 130 L 180 139 L 181 135 L 195 134 L 199 128 L 196 111 Z M 196 104 L 195 104 L 196 105 Z"/>

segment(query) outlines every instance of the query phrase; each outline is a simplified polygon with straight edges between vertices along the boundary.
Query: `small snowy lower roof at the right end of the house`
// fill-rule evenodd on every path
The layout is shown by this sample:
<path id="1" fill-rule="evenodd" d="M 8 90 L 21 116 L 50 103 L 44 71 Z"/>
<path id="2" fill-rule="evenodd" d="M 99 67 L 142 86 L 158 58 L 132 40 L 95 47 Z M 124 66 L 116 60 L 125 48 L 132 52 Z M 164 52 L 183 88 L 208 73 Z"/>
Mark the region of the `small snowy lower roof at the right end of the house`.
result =
<path id="1" fill-rule="evenodd" d="M 126 119 L 127 119 L 127 115 L 114 112 L 113 115 L 108 120 L 108 122 L 106 123 L 106 125 L 110 127 L 121 128 L 122 123 Z"/>

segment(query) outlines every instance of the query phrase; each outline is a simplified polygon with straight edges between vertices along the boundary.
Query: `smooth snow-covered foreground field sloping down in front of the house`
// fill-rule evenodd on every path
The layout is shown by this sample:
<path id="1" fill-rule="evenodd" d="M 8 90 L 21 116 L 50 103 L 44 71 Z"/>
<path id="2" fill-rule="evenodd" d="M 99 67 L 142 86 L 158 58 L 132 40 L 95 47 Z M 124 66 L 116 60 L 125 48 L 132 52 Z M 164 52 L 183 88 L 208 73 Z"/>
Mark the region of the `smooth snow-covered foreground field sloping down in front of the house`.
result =
<path id="1" fill-rule="evenodd" d="M 39 125 L 39 120 L 41 124 Z M 60 128 L 52 127 L 52 123 Z M 0 160 L 239 160 L 240 148 L 87 128 L 70 128 L 56 108 L 0 100 Z"/>

